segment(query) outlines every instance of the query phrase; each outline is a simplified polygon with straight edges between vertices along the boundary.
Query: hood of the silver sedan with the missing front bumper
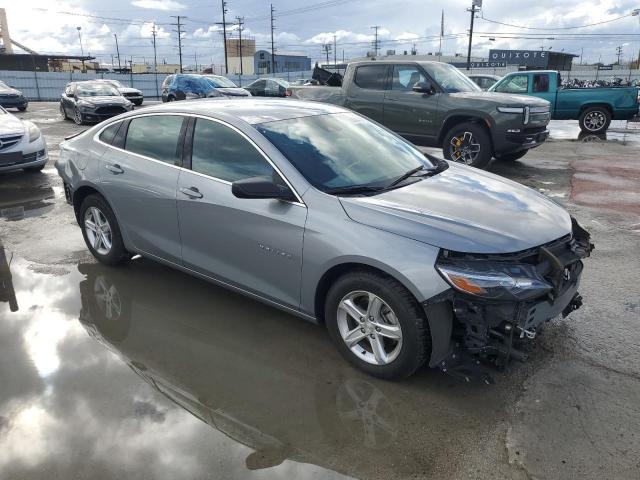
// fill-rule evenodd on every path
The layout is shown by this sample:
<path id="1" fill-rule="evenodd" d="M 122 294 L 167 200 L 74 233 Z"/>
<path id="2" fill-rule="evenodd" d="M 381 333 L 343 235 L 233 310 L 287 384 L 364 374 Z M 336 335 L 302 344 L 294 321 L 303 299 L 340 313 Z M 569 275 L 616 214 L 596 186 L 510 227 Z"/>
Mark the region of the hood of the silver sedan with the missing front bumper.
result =
<path id="1" fill-rule="evenodd" d="M 519 252 L 571 232 L 567 211 L 544 195 L 456 164 L 405 187 L 340 202 L 356 222 L 457 252 Z"/>

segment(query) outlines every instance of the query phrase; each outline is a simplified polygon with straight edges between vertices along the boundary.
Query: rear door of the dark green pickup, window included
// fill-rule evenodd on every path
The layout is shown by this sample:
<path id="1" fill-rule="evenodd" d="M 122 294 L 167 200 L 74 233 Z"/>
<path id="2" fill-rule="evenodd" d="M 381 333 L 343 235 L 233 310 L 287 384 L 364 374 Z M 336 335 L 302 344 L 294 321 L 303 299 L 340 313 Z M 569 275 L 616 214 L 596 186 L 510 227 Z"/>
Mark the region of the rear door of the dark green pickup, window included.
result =
<path id="1" fill-rule="evenodd" d="M 389 76 L 388 65 L 359 65 L 353 72 L 345 106 L 362 115 L 384 122 L 384 93 Z"/>

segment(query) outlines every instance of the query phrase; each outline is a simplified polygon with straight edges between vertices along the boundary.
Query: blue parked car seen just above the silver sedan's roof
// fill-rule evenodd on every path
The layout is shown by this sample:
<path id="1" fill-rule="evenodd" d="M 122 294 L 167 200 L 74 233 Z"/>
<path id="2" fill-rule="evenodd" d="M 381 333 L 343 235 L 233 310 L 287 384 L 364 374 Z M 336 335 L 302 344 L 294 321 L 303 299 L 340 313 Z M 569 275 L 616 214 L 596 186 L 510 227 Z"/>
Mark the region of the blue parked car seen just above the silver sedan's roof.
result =
<path id="1" fill-rule="evenodd" d="M 244 88 L 218 75 L 176 73 L 162 82 L 162 101 L 192 100 L 206 97 L 250 97 Z"/>

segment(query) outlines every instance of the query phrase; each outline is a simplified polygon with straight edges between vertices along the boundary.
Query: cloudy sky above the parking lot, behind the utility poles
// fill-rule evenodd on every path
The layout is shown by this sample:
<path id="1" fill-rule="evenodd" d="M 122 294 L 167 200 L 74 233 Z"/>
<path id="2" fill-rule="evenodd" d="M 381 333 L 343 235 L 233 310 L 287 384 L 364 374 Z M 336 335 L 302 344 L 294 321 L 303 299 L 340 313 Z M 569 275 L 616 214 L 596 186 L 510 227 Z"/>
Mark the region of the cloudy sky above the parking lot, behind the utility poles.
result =
<path id="1" fill-rule="evenodd" d="M 177 63 L 175 15 L 184 19 L 185 64 L 220 65 L 222 35 L 221 0 L 9 0 L 9 28 L 14 40 L 39 53 L 77 55 L 81 27 L 84 51 L 110 63 L 118 35 L 120 53 L 134 62 L 152 62 L 151 30 L 158 30 L 158 61 Z M 348 59 L 371 50 L 372 26 L 379 25 L 381 50 L 438 49 L 440 16 L 444 10 L 445 54 L 466 54 L 471 0 L 273 0 L 276 9 L 276 49 L 304 52 L 322 60 L 322 44 L 337 41 L 337 56 Z M 0 3 L 2 6 L 2 3 Z M 640 17 L 630 16 L 637 0 L 485 0 L 475 23 L 473 54 L 486 57 L 489 48 L 563 50 L 585 61 L 610 63 L 616 47 L 622 60 L 636 58 L 640 50 Z M 269 2 L 228 0 L 227 21 L 245 18 L 243 35 L 269 48 Z M 501 23 L 496 23 L 501 22 Z M 603 23 L 604 22 L 604 23 Z M 509 24 L 509 25 L 504 25 Z M 584 28 L 571 28 L 597 24 Z M 528 28 L 522 28 L 528 27 Z M 231 27 L 234 28 L 234 27 Z M 493 40 L 490 40 L 492 38 Z"/>

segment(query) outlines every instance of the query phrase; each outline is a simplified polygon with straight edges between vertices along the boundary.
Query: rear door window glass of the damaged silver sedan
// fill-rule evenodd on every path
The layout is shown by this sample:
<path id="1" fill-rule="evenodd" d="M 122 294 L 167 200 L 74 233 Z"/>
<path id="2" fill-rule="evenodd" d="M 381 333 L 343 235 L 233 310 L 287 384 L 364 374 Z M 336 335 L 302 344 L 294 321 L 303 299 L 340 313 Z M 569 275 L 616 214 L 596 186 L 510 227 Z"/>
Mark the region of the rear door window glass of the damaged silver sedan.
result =
<path id="1" fill-rule="evenodd" d="M 125 150 L 175 165 L 182 117 L 150 115 L 131 120 Z"/>

